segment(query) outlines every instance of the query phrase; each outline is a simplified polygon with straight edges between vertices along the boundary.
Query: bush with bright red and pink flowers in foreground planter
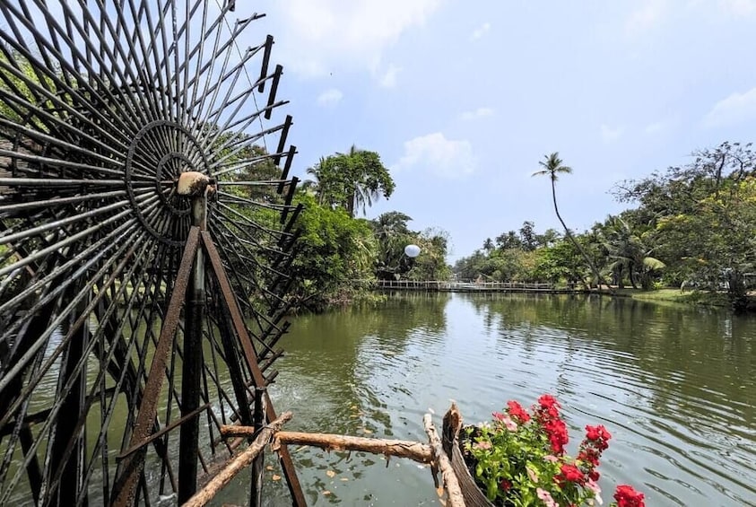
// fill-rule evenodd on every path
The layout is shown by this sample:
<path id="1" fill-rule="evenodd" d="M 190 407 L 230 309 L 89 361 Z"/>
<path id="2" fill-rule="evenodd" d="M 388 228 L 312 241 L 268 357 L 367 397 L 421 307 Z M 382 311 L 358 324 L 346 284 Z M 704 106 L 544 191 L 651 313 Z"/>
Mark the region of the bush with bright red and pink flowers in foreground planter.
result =
<path id="1" fill-rule="evenodd" d="M 531 412 L 509 401 L 492 424 L 468 428 L 464 454 L 471 473 L 491 503 L 504 506 L 601 505 L 597 484 L 601 454 L 612 435 L 603 425 L 586 426 L 577 459 L 565 454 L 567 425 L 556 398 L 544 394 Z M 616 507 L 644 507 L 643 494 L 620 485 Z"/>

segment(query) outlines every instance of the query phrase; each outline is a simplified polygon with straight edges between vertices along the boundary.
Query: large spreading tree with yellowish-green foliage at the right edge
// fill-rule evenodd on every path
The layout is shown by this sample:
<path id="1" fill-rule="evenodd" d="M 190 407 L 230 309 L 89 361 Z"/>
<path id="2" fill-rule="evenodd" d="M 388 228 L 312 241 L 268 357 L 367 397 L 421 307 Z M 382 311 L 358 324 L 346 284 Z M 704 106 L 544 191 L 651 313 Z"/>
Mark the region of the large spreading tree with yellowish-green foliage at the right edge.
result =
<path id="1" fill-rule="evenodd" d="M 623 182 L 616 197 L 638 202 L 632 216 L 646 220 L 649 241 L 673 284 L 725 288 L 744 308 L 744 275 L 754 269 L 756 153 L 751 144 L 723 143 L 694 153 L 693 162 Z"/>

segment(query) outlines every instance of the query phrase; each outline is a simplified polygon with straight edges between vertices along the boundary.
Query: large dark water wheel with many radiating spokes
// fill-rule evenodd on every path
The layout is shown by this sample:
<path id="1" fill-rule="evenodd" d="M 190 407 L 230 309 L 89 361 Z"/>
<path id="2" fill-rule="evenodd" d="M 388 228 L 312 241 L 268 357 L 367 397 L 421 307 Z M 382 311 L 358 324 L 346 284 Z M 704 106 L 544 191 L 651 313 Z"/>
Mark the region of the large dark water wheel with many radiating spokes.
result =
<path id="1" fill-rule="evenodd" d="M 299 211 L 259 17 L 0 2 L 0 504 L 180 503 L 252 424 Z"/>

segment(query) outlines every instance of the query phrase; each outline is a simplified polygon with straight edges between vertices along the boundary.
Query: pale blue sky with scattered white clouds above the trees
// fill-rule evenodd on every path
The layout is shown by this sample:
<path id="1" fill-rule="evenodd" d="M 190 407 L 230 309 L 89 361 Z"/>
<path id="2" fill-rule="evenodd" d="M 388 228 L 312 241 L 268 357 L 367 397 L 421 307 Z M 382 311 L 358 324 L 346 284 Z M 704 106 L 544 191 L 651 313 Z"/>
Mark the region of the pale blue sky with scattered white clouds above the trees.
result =
<path id="1" fill-rule="evenodd" d="M 242 6 L 244 5 L 244 6 Z M 368 218 L 398 210 L 415 230 L 449 232 L 449 261 L 487 237 L 583 231 L 621 211 L 621 179 L 685 163 L 756 132 L 756 0 L 461 2 L 265 0 L 291 100 L 303 176 L 352 144 L 380 153 L 396 182 Z M 250 39 L 250 44 L 253 41 Z"/>

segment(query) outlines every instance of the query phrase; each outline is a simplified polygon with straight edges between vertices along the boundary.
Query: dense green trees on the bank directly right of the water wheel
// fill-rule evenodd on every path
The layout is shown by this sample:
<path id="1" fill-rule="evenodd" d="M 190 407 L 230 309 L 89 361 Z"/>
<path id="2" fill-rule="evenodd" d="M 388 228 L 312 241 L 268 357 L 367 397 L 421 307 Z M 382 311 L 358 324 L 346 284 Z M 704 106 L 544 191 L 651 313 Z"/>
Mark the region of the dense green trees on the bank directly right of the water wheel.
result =
<path id="1" fill-rule="evenodd" d="M 235 177 L 267 179 L 271 169 L 264 164 L 248 166 Z M 297 255 L 290 267 L 294 279 L 290 297 L 295 308 L 322 310 L 329 304 L 361 299 L 378 279 L 448 278 L 446 232 L 413 231 L 409 225 L 412 218 L 398 211 L 374 220 L 359 216 L 395 189 L 378 153 L 352 146 L 348 153 L 321 158 L 307 174 L 310 179 L 294 196 L 294 203 L 302 205 L 296 225 Z M 248 192 L 261 191 L 254 188 Z M 275 193 L 248 197 L 271 204 L 281 198 Z M 275 219 L 265 207 L 254 213 L 259 223 Z M 420 247 L 417 258 L 404 254 L 410 244 Z"/>

